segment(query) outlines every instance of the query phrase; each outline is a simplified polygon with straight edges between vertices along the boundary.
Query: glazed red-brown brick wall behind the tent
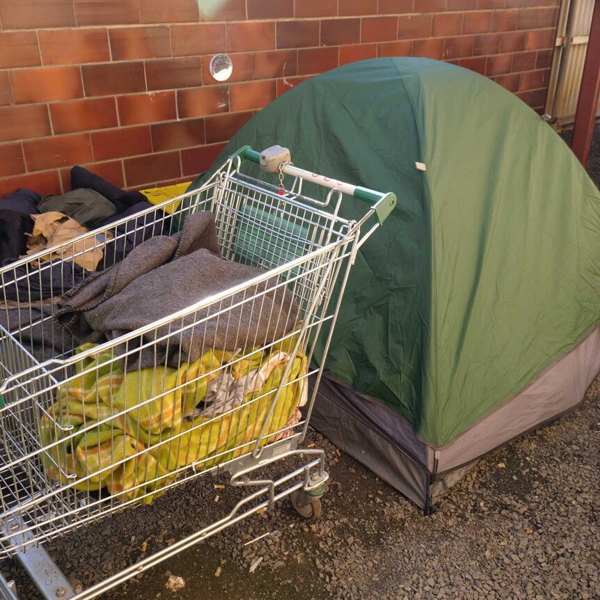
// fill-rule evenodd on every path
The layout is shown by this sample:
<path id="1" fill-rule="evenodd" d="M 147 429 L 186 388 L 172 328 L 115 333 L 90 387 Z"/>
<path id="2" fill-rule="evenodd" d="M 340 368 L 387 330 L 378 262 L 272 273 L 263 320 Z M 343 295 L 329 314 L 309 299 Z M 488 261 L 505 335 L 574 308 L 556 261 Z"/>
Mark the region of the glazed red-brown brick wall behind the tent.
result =
<path id="1" fill-rule="evenodd" d="M 0 0 L 0 196 L 191 179 L 313 74 L 429 56 L 546 95 L 560 0 Z M 208 72 L 228 52 L 226 84 Z"/>

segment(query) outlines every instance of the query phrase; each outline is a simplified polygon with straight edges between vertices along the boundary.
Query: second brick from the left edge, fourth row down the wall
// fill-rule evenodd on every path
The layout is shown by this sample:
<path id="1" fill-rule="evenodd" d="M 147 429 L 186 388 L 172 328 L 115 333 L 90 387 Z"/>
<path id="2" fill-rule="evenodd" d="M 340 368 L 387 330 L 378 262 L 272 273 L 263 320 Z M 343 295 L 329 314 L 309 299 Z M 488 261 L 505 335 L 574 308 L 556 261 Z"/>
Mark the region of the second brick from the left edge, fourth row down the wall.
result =
<path id="1" fill-rule="evenodd" d="M 50 115 L 55 134 L 118 126 L 113 97 L 86 98 L 50 104 Z"/>

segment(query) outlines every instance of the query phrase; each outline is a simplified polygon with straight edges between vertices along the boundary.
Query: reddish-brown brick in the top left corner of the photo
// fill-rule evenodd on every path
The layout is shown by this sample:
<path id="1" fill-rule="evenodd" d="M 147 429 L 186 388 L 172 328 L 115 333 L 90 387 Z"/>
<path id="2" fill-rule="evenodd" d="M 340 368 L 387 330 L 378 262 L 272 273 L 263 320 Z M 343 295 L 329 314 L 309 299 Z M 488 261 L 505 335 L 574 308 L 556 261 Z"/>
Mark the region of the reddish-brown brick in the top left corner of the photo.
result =
<path id="1" fill-rule="evenodd" d="M 73 0 L 2 0 L 3 29 L 74 27 Z"/>

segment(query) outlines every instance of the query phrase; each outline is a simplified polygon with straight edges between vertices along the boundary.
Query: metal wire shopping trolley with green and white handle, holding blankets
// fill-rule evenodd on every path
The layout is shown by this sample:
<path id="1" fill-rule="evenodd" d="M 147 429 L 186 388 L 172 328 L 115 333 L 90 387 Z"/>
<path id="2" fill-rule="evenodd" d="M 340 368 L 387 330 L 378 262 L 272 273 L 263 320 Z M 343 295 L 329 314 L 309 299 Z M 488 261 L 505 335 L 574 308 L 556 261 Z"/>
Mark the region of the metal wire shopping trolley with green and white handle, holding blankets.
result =
<path id="1" fill-rule="evenodd" d="M 0 326 L 0 556 L 15 558 L 45 599 L 95 598 L 288 496 L 302 516 L 314 519 L 320 514 L 328 479 L 324 451 L 302 448 L 301 443 L 349 270 L 358 248 L 384 222 L 396 198 L 304 171 L 292 164 L 284 149 L 274 148 L 259 153 L 246 146 L 199 189 L 0 269 L 0 315 L 6 316 Z M 242 166 L 248 161 L 278 173 L 279 183 L 244 174 Z M 288 187 L 286 176 L 292 177 L 287 179 Z M 329 189 L 324 199 L 305 194 L 306 182 Z M 365 201 L 364 216 L 358 221 L 340 216 L 344 194 Z M 258 276 L 99 345 L 76 347 L 65 330 L 56 326 L 53 299 L 76 283 L 77 274 L 81 276 L 78 263 L 101 268 L 119 262 L 148 235 L 173 234 L 200 211 L 214 215 L 222 258 L 258 267 Z M 40 292 L 44 286 L 49 287 L 46 294 Z M 276 290 L 291 293 L 298 309 L 299 317 L 285 335 L 258 346 L 250 340 L 235 352 L 207 349 L 200 367 L 194 371 L 187 365 L 186 378 L 177 378 L 171 387 L 157 384 L 165 379 L 166 365 L 155 364 L 150 368 L 146 396 L 139 392 L 133 405 L 113 404 L 124 377 L 125 381 L 129 377 L 119 371 L 125 358 L 140 349 L 152 351 L 159 340 L 176 340 L 190 328 L 200 331 L 210 319 L 228 323 L 234 307 L 261 310 L 267 294 Z M 320 367 L 311 362 L 317 340 Z M 202 363 L 209 355 L 210 360 Z M 274 356 L 278 377 L 269 376 L 269 387 L 265 383 L 250 394 L 244 388 L 242 402 L 202 418 L 193 415 L 185 430 L 181 419 L 177 427 L 173 421 L 166 423 L 173 419 L 174 409 L 164 407 L 173 397 L 187 397 L 190 390 L 201 397 L 198 390 L 205 391 L 207 381 L 225 373 L 231 377 L 236 369 L 242 372 L 244 368 L 250 377 L 249 365 L 264 366 Z M 112 368 L 118 377 L 109 377 L 102 391 L 99 381 Z M 310 398 L 308 377 L 315 377 L 316 382 Z M 86 396 L 86 409 L 79 411 L 83 404 L 63 398 L 68 395 L 65 390 L 80 384 L 83 389 L 82 381 L 91 381 L 91 394 Z M 106 377 L 102 381 L 106 384 Z M 139 415 L 148 409 L 158 416 L 154 431 L 159 434 L 142 440 Z M 137 427 L 133 433 L 129 429 L 133 451 L 123 455 L 113 424 L 132 415 Z M 207 441 L 211 436 L 219 442 Z M 107 448 L 109 467 L 94 458 Z M 161 462 L 164 456 L 168 466 Z M 301 468 L 278 478 L 265 473 L 265 467 L 292 456 L 303 457 Z M 126 481 L 128 470 L 136 475 Z M 230 484 L 248 488 L 248 493 L 219 521 L 86 590 L 71 585 L 42 546 L 74 528 L 149 503 L 207 473 L 228 473 Z M 112 484 L 109 492 L 101 482 Z M 0 576 L 0 596 L 16 599 L 17 593 L 13 582 Z"/>

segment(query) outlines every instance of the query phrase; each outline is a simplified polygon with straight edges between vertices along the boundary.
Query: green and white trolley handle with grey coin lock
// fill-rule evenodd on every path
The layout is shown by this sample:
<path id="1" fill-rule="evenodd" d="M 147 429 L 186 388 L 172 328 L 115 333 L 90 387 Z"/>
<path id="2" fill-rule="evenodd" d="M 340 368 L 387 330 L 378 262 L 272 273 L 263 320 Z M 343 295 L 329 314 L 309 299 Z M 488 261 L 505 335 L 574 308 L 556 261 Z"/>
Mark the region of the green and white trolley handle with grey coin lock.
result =
<path id="1" fill-rule="evenodd" d="M 269 150 L 271 149 L 269 148 Z M 281 148 L 281 150 L 287 151 L 285 148 Z M 267 150 L 263 150 L 263 153 L 264 152 L 267 152 Z M 242 146 L 242 148 L 239 148 L 237 152 L 234 152 L 232 157 L 239 156 L 243 160 L 251 161 L 255 164 L 261 165 L 262 167 L 260 161 L 261 154 L 261 152 L 253 150 L 251 146 L 245 145 Z M 289 156 L 289 151 L 287 151 L 287 155 Z M 375 191 L 374 189 L 368 189 L 366 187 L 356 186 L 338 181 L 336 179 L 331 179 L 331 177 L 325 177 L 324 175 L 319 175 L 318 173 L 313 173 L 312 171 L 305 171 L 303 168 L 298 168 L 297 166 L 293 166 L 285 161 L 278 165 L 278 168 L 286 175 L 291 175 L 292 177 L 301 177 L 301 179 L 305 181 L 310 181 L 329 189 L 339 189 L 343 194 L 353 196 L 356 198 L 356 200 L 363 200 L 364 202 L 372 204 L 373 211 L 375 214 L 377 214 L 379 223 L 383 223 L 388 218 L 390 212 L 393 211 L 396 205 L 396 195 L 392 192 L 384 193 L 381 191 Z M 263 168 L 263 170 L 274 172 L 265 168 Z"/>

